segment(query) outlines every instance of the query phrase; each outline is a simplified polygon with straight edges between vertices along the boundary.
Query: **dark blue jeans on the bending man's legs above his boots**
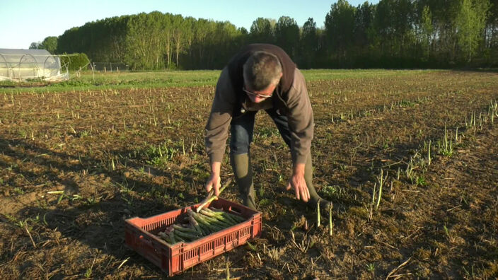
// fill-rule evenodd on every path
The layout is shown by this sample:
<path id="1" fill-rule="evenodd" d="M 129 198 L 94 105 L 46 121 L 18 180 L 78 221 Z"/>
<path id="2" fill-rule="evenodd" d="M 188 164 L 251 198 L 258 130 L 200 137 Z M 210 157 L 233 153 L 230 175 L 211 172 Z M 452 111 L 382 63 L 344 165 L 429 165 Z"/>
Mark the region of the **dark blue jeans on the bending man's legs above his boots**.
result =
<path id="1" fill-rule="evenodd" d="M 289 122 L 286 116 L 277 114 L 274 108 L 265 110 L 273 119 L 280 135 L 284 139 L 287 146 L 291 146 L 291 132 L 289 130 Z M 234 117 L 231 121 L 231 139 L 230 153 L 240 155 L 249 153 L 250 144 L 253 142 L 254 119 L 257 111 L 248 111 L 240 117 Z"/>

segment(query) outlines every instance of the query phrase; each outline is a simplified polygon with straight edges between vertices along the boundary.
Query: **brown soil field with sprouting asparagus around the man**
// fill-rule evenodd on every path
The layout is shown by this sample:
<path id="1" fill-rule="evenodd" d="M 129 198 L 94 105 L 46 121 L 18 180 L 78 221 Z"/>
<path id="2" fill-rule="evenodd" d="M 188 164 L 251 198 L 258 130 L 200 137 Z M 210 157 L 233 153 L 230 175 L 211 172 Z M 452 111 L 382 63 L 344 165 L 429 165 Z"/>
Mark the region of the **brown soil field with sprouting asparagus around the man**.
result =
<path id="1" fill-rule="evenodd" d="M 262 112 L 251 152 L 262 236 L 173 278 L 226 279 L 226 264 L 232 279 L 498 276 L 497 73 L 340 78 L 308 91 L 332 235 L 328 215 L 318 227 L 285 191 L 289 148 Z M 1 278 L 166 278 L 125 247 L 125 219 L 204 199 L 213 92 L 0 94 Z M 222 173 L 233 176 L 227 156 Z M 241 202 L 233 184 L 222 196 Z"/>

